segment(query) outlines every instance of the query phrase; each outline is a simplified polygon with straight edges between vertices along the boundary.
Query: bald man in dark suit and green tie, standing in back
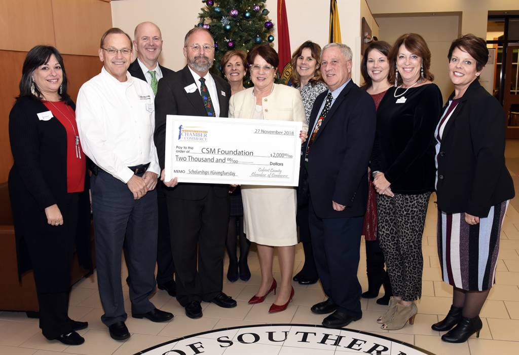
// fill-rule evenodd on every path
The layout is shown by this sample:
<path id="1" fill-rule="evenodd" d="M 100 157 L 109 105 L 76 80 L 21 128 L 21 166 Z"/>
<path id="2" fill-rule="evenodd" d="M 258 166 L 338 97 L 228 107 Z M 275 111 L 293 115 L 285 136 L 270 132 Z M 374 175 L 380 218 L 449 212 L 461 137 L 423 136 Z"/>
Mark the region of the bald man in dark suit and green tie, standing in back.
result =
<path id="1" fill-rule="evenodd" d="M 157 94 L 158 81 L 168 77 L 174 71 L 159 64 L 158 58 L 162 51 L 162 34 L 158 26 L 152 22 L 142 22 L 135 27 L 133 45 L 137 52 L 137 59 L 128 67 L 131 76 L 146 81 Z M 157 287 L 166 290 L 171 296 L 176 295 L 173 274 L 175 265 L 171 254 L 169 237 L 168 210 L 164 184 L 157 184 L 157 203 L 159 207 L 159 225 L 157 240 Z M 128 260 L 126 260 L 128 263 Z M 129 283 L 129 277 L 126 279 Z"/>

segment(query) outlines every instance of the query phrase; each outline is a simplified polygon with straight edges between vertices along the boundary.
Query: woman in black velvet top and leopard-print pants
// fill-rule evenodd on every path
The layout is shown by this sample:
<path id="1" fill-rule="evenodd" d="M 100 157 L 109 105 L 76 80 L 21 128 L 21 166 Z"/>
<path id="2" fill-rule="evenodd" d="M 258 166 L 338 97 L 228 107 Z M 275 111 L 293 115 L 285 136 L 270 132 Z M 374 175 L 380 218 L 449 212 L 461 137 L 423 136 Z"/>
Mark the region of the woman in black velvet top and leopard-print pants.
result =
<path id="1" fill-rule="evenodd" d="M 377 110 L 371 166 L 377 196 L 378 236 L 393 297 L 377 321 L 401 329 L 418 312 L 424 260 L 421 239 L 434 190 L 434 128 L 442 108 L 429 72 L 431 52 L 415 33 L 400 36 L 389 52 L 395 78 Z"/>

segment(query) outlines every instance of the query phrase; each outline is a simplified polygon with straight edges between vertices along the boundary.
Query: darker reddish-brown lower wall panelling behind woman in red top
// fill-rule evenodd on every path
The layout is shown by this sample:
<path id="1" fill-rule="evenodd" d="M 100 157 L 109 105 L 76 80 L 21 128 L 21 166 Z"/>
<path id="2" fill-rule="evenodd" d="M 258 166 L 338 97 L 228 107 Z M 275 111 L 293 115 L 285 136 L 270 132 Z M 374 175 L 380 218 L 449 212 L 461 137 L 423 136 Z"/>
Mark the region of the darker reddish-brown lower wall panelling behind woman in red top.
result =
<path id="1" fill-rule="evenodd" d="M 9 145 L 9 112 L 19 93 L 22 65 L 26 52 L 0 50 L 0 63 L 9 63 L 9 70 L 0 71 L 2 96 L 0 98 L 0 183 L 6 182 L 12 166 Z M 85 81 L 99 74 L 102 63 L 99 57 L 63 55 L 63 64 L 69 78 L 69 94 L 74 102 Z"/>

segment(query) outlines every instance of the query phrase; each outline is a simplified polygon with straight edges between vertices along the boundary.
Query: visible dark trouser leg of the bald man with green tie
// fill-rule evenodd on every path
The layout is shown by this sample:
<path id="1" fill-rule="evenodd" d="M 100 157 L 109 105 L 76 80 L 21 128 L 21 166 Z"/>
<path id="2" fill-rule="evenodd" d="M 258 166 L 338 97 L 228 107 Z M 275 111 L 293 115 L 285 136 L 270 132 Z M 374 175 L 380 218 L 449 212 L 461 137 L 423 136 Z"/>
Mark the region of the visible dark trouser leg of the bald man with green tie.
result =
<path id="1" fill-rule="evenodd" d="M 171 254 L 171 238 L 169 235 L 168 204 L 164 183 L 157 183 L 158 204 L 158 238 L 157 238 L 157 284 L 161 285 L 173 280 L 175 264 Z"/>

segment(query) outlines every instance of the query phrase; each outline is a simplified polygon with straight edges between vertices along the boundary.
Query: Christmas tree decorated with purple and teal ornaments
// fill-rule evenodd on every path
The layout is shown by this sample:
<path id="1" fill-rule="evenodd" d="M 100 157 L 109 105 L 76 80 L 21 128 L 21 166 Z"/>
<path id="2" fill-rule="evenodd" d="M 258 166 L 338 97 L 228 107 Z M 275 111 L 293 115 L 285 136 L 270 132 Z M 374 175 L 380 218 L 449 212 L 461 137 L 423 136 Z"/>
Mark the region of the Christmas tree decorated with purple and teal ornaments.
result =
<path id="1" fill-rule="evenodd" d="M 227 50 L 245 52 L 258 44 L 274 41 L 274 24 L 268 18 L 264 1 L 202 0 L 199 27 L 208 29 L 214 38 L 215 64 L 211 71 L 220 75 L 220 60 Z M 247 83 L 245 83 L 247 85 Z"/>

